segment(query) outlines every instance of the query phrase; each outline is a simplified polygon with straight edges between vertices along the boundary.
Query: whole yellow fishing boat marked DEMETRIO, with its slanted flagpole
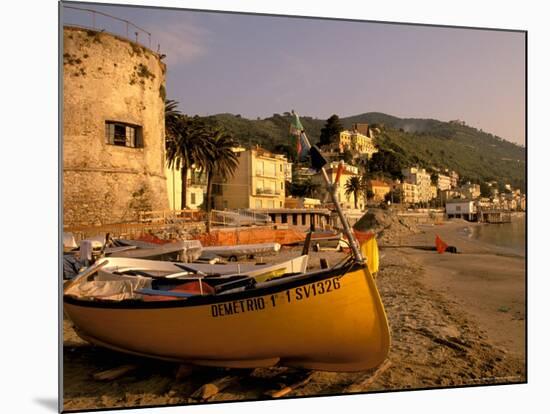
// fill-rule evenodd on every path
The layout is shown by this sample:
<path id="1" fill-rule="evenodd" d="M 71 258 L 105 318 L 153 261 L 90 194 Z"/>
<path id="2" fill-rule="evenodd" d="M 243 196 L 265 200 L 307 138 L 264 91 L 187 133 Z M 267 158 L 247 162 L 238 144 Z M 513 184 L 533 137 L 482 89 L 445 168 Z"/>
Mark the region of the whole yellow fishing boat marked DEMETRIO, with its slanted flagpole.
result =
<path id="1" fill-rule="evenodd" d="M 330 181 L 326 160 L 309 144 L 294 116 L 294 130 L 310 149 L 312 166 L 323 174 L 352 257 L 330 269 L 270 274 L 269 280 L 246 274 L 192 281 L 137 275 L 112 282 L 120 300 L 112 300 L 117 295 L 111 299 L 71 295 L 79 291 L 71 287 L 77 279 L 87 281 L 107 265 L 102 262 L 69 282 L 63 296 L 65 313 L 83 339 L 136 355 L 234 368 L 281 364 L 360 371 L 386 359 L 390 347 L 386 314 L 338 203 L 338 176 Z M 363 250 L 376 271 L 375 242 Z M 105 289 L 111 294 L 109 286 Z"/>

